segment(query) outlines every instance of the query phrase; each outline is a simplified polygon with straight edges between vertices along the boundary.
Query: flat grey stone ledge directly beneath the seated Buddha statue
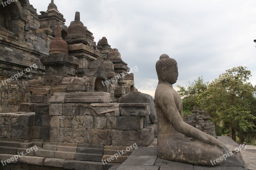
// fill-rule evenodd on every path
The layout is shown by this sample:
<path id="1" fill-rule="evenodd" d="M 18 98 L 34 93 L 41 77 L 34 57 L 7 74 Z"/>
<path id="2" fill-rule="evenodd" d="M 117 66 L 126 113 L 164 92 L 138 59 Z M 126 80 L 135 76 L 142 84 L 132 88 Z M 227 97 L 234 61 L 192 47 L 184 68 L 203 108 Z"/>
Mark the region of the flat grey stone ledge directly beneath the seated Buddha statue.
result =
<path id="1" fill-rule="evenodd" d="M 235 143 L 229 137 L 218 137 L 218 139 L 225 144 L 225 142 Z M 110 170 L 242 170 L 246 169 L 242 155 L 240 152 L 230 156 L 227 160 L 223 161 L 222 166 L 209 167 L 209 166 L 198 166 L 173 161 L 167 161 L 158 158 L 157 156 L 157 142 L 156 138 L 154 142 L 148 147 L 138 147 L 122 164 L 116 164 L 112 166 Z M 233 141 L 233 142 L 232 142 Z M 238 145 L 237 145 L 238 146 Z M 236 147 L 235 147 L 236 148 Z M 234 151 L 234 147 L 228 148 L 229 151 Z M 193 156 L 193 155 L 191 155 Z"/>

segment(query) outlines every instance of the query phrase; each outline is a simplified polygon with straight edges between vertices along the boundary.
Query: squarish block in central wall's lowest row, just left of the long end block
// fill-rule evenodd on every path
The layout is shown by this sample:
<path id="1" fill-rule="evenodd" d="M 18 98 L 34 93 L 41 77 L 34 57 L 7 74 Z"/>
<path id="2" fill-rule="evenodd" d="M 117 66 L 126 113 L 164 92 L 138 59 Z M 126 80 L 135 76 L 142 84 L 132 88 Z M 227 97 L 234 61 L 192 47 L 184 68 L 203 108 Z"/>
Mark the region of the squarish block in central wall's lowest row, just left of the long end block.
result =
<path id="1" fill-rule="evenodd" d="M 90 144 L 111 144 L 110 129 L 87 129 Z"/>

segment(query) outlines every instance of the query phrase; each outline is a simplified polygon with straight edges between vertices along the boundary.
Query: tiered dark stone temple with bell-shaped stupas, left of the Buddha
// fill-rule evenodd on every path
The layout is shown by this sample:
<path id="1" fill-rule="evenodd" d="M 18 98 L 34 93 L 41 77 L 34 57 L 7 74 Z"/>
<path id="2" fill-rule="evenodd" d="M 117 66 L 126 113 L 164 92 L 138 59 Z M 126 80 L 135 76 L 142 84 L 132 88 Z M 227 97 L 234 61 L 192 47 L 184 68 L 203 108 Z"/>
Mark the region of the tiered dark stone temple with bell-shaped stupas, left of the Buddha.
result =
<path id="1" fill-rule="evenodd" d="M 158 157 L 153 98 L 79 12 L 67 27 L 53 0 L 0 3 L 0 170 L 195 169 Z M 187 123 L 216 136 L 200 113 Z"/>

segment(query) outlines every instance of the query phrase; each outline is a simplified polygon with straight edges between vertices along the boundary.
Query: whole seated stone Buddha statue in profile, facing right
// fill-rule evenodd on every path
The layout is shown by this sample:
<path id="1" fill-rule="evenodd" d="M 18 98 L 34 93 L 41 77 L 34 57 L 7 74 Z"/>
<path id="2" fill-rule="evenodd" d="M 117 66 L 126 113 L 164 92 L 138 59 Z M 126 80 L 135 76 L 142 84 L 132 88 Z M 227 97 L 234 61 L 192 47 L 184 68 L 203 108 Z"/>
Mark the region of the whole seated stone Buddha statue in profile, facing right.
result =
<path id="1" fill-rule="evenodd" d="M 156 63 L 156 72 L 159 81 L 155 93 L 159 158 L 194 165 L 221 165 L 223 159 L 219 158 L 225 152 L 224 145 L 183 121 L 180 95 L 172 87 L 178 79 L 177 62 L 163 54 Z"/>

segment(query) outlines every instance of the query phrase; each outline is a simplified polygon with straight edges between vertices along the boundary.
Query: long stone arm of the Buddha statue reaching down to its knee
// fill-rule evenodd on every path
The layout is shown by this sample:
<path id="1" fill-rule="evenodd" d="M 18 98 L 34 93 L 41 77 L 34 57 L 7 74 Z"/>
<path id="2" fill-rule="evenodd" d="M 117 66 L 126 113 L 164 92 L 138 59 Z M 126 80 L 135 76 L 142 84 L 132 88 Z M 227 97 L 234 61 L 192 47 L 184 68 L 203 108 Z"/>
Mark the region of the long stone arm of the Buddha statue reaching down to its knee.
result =
<path id="1" fill-rule="evenodd" d="M 219 146 L 224 150 L 224 145 L 222 145 L 218 139 L 194 128 L 193 126 L 190 126 L 183 121 L 171 93 L 164 95 L 163 99 L 165 100 L 162 100 L 163 102 L 159 103 L 160 107 L 175 130 L 187 135 L 188 137 L 192 137 L 193 139 L 197 139 L 207 144 Z"/>

